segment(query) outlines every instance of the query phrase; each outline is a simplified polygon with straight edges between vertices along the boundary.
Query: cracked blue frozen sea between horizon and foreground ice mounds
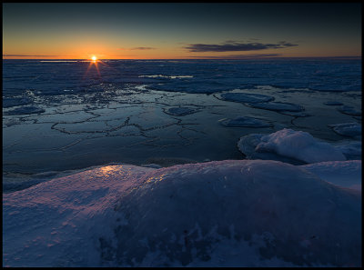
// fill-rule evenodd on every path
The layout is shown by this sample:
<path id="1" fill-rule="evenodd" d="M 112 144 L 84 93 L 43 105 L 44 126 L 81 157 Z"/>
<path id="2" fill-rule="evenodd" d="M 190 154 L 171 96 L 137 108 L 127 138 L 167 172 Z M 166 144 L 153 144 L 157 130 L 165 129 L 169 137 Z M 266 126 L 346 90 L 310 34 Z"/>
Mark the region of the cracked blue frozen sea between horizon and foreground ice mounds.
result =
<path id="1" fill-rule="evenodd" d="M 358 159 L 360 60 L 102 61 L 3 61 L 5 192 L 110 163 L 244 159 L 240 137 L 283 128 Z"/>

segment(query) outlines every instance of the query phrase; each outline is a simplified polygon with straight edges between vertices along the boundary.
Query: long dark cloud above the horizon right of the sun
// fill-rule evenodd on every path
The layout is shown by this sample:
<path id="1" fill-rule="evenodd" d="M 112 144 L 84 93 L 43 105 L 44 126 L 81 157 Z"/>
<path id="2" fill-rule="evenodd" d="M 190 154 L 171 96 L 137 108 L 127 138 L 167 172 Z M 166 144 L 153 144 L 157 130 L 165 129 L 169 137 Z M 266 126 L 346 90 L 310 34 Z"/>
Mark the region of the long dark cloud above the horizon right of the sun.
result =
<path id="1" fill-rule="evenodd" d="M 226 42 L 223 45 L 210 45 L 210 44 L 191 44 L 187 45 L 185 49 L 190 52 L 234 52 L 234 51 L 257 51 L 266 49 L 281 49 L 284 47 L 297 46 L 285 41 L 278 44 L 262 44 L 262 43 L 238 43 Z"/>

